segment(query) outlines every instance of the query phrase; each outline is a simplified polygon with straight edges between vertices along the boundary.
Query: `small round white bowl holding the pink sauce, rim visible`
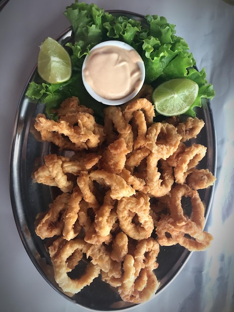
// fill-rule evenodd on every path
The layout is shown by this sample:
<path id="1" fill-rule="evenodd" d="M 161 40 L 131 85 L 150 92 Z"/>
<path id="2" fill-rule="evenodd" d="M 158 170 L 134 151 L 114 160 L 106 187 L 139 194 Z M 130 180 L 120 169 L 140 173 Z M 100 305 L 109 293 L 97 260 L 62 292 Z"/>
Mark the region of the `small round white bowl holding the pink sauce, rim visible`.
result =
<path id="1" fill-rule="evenodd" d="M 101 42 L 97 45 L 95 45 L 91 50 L 93 51 L 94 49 L 103 47 L 103 46 L 117 46 L 119 48 L 123 48 L 125 50 L 134 50 L 134 48 L 132 46 L 130 46 L 129 44 L 122 42 L 122 41 L 118 41 L 118 40 L 108 40 L 108 41 L 104 41 Z M 84 69 L 86 67 L 86 62 L 87 62 L 87 58 L 89 57 L 89 55 L 86 56 L 83 66 L 82 66 L 82 80 L 84 83 L 84 86 L 86 88 L 86 90 L 88 91 L 88 93 L 98 102 L 101 102 L 103 104 L 107 104 L 107 105 L 121 105 L 123 103 L 126 103 L 128 101 L 130 101 L 132 98 L 134 98 L 137 93 L 140 91 L 140 89 L 142 88 L 142 85 L 144 83 L 144 79 L 145 79 L 145 67 L 144 67 L 144 62 L 140 57 L 140 61 L 137 62 L 140 72 L 141 72 L 141 79 L 140 79 L 140 84 L 138 85 L 137 89 L 135 89 L 131 94 L 121 98 L 121 99 L 117 99 L 117 100 L 110 100 L 110 99 L 106 99 L 101 97 L 100 95 L 98 95 L 92 88 L 91 86 L 88 84 L 88 82 L 85 79 L 85 74 L 84 74 Z"/>

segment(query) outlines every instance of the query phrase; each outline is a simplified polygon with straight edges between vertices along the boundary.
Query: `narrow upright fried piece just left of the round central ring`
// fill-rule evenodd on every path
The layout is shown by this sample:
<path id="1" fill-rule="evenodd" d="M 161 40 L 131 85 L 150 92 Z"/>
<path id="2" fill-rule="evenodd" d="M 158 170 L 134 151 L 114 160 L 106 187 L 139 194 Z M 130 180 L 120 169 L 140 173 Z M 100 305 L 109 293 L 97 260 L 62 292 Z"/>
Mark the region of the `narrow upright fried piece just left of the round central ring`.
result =
<path id="1" fill-rule="evenodd" d="M 95 215 L 95 229 L 100 236 L 110 234 L 114 223 L 117 221 L 117 212 L 115 209 L 116 200 L 112 199 L 109 190 L 104 197 L 104 203 L 98 209 Z"/>

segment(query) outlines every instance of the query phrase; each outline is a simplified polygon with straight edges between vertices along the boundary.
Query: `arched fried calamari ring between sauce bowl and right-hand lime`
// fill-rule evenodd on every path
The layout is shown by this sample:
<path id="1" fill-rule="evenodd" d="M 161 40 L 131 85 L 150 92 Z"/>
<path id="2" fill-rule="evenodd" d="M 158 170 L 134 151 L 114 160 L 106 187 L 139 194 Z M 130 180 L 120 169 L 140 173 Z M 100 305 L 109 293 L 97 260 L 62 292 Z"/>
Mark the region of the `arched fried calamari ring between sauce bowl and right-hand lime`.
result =
<path id="1" fill-rule="evenodd" d="M 135 111 L 143 111 L 147 126 L 153 123 L 155 117 L 154 106 L 147 99 L 136 99 L 127 104 L 123 111 L 123 117 L 127 123 L 129 123 L 133 117 Z"/>

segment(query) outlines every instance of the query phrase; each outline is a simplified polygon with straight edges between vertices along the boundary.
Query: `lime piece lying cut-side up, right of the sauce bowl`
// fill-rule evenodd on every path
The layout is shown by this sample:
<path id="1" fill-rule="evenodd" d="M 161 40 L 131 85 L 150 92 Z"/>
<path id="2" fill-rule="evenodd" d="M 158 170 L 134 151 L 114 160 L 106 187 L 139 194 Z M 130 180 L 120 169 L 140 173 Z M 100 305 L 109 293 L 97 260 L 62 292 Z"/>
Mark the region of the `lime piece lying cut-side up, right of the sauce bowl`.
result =
<path id="1" fill-rule="evenodd" d="M 198 84 L 187 78 L 168 80 L 153 91 L 155 109 L 163 116 L 181 115 L 195 102 L 198 89 Z"/>

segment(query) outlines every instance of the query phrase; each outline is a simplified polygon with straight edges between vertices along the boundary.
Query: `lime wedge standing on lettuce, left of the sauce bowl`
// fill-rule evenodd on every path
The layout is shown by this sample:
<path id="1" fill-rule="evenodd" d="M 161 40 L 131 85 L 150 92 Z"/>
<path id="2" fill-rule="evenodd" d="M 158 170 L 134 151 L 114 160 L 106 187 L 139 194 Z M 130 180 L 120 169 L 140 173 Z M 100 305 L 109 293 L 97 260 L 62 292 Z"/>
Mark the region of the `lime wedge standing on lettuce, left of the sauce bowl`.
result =
<path id="1" fill-rule="evenodd" d="M 40 46 L 37 70 L 48 83 L 67 81 L 72 73 L 71 58 L 60 43 L 48 37 Z"/>

